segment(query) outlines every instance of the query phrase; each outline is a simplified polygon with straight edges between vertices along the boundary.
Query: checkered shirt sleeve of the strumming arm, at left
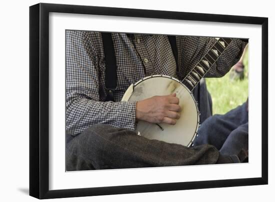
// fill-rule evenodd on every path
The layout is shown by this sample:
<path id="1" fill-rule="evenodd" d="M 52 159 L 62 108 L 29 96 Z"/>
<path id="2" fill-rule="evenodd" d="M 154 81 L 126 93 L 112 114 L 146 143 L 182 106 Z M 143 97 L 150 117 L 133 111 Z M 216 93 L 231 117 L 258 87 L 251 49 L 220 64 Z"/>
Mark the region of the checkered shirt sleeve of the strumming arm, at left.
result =
<path id="1" fill-rule="evenodd" d="M 134 130 L 135 102 L 99 101 L 98 57 L 90 32 L 66 31 L 66 132 L 92 124 Z"/>

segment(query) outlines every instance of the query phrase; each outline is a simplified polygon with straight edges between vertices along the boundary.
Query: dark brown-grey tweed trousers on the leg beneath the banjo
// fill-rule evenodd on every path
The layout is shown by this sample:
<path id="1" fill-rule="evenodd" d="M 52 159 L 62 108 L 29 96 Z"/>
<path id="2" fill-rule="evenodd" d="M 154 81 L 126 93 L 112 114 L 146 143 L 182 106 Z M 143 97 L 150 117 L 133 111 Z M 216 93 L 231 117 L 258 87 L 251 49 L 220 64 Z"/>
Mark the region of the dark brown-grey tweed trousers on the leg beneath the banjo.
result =
<path id="1" fill-rule="evenodd" d="M 218 150 L 209 144 L 189 148 L 96 124 L 67 139 L 66 170 L 213 164 L 219 157 Z"/>

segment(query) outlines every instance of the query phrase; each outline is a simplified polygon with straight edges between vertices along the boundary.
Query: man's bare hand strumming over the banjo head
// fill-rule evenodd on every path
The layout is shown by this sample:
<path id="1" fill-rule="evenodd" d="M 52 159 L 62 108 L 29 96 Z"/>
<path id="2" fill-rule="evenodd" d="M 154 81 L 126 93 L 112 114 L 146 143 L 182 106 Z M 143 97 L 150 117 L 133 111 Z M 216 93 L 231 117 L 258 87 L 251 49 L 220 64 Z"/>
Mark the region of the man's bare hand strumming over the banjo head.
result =
<path id="1" fill-rule="evenodd" d="M 152 96 L 136 102 L 135 118 L 151 123 L 168 123 L 174 125 L 180 117 L 181 108 L 176 94 Z"/>

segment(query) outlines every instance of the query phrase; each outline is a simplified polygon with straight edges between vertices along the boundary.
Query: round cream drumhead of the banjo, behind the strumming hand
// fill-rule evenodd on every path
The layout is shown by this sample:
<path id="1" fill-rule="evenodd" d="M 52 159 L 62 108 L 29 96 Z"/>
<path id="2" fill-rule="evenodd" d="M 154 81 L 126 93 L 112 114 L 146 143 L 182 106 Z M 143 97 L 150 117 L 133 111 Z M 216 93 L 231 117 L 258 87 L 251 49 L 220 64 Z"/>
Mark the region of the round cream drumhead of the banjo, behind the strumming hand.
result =
<path id="1" fill-rule="evenodd" d="M 128 101 L 139 101 L 154 95 L 168 95 L 174 92 L 176 97 L 179 98 L 181 107 L 180 118 L 176 121 L 176 124 L 158 123 L 159 127 L 155 123 L 138 121 L 136 131 L 141 136 L 149 139 L 190 146 L 198 127 L 198 109 L 190 91 L 177 79 L 163 75 L 145 77 L 134 84 L 132 93 L 128 93 L 129 97 L 126 99 Z M 125 97 L 123 98 L 125 100 Z"/>

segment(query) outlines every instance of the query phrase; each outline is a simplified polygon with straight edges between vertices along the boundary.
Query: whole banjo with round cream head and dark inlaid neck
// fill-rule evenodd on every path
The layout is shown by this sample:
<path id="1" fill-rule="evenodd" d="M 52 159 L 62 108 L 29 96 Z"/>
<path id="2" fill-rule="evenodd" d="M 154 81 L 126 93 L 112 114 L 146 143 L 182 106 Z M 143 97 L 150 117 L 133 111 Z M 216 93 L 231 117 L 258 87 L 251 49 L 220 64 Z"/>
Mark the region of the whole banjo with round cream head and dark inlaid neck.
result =
<path id="1" fill-rule="evenodd" d="M 231 40 L 231 38 L 216 38 L 216 42 L 212 47 L 181 81 L 167 75 L 151 75 L 131 84 L 127 88 L 121 101 L 139 101 L 154 95 L 176 93 L 181 107 L 180 118 L 174 125 L 150 123 L 143 120 L 137 121 L 136 132 L 138 135 L 184 146 L 192 145 L 200 125 L 198 103 L 192 94 L 192 90 Z"/>

